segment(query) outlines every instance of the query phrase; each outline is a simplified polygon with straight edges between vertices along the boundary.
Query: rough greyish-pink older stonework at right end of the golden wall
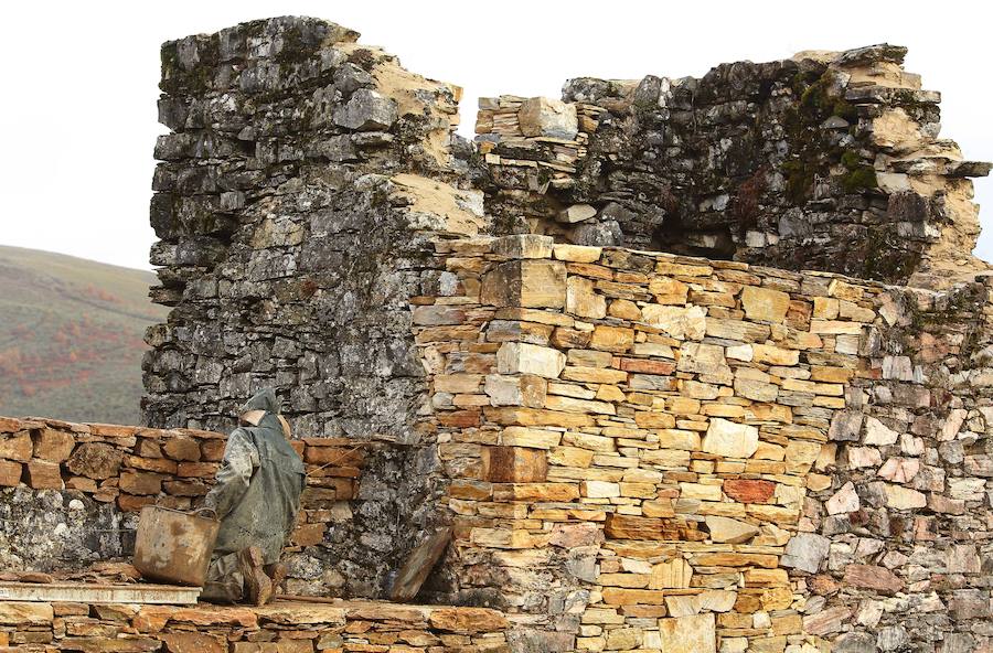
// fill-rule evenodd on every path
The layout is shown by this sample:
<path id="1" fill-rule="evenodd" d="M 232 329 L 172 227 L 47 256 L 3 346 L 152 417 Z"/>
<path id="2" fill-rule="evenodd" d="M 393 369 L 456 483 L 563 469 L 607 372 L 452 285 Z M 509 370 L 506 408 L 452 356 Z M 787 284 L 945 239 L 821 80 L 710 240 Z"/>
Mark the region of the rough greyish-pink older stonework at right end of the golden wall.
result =
<path id="1" fill-rule="evenodd" d="M 808 479 L 802 536 L 786 552 L 811 572 L 798 586 L 804 629 L 834 651 L 989 651 L 989 278 L 873 304 L 859 350 L 869 374 L 845 388 L 825 475 Z"/>

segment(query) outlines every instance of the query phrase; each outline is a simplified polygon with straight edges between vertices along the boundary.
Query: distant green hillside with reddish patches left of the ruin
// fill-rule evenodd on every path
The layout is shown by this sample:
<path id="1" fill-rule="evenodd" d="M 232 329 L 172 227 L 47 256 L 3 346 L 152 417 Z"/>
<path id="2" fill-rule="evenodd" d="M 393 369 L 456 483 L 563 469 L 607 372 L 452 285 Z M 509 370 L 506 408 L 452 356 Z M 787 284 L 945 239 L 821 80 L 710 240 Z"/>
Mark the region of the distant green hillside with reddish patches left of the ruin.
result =
<path id="1" fill-rule="evenodd" d="M 138 424 L 153 274 L 0 246 L 0 415 Z"/>

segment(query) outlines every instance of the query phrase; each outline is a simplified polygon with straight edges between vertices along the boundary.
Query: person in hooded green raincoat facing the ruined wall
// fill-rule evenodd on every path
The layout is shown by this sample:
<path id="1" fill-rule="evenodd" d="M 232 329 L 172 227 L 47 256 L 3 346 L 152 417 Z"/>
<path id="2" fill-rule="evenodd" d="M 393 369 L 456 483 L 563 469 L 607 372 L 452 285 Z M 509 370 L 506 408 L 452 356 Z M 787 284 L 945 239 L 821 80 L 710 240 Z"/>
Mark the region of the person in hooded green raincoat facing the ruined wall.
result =
<path id="1" fill-rule="evenodd" d="M 216 483 L 196 511 L 221 520 L 201 597 L 261 606 L 286 577 L 279 557 L 297 523 L 306 475 L 271 388 L 252 397 L 238 421 Z"/>

